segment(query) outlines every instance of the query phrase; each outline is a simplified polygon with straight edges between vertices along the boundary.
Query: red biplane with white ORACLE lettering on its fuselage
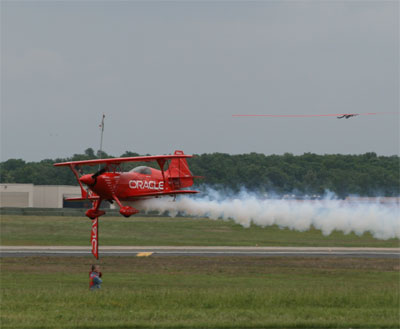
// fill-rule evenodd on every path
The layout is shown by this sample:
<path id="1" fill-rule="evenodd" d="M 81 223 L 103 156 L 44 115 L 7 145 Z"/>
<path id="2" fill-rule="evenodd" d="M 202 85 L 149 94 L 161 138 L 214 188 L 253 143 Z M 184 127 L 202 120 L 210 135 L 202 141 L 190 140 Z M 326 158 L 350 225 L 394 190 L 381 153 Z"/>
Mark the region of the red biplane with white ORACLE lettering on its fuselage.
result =
<path id="1" fill-rule="evenodd" d="M 68 166 L 75 174 L 81 187 L 80 198 L 70 198 L 70 201 L 90 200 L 92 208 L 86 211 L 86 216 L 96 219 L 105 212 L 100 210 L 102 201 L 115 202 L 120 208 L 120 214 L 129 217 L 139 210 L 123 205 L 124 201 L 138 201 L 144 198 L 160 197 L 165 195 L 197 193 L 197 191 L 183 190 L 193 185 L 194 176 L 191 174 L 186 158 L 191 155 L 183 151 L 175 151 L 173 155 L 155 155 L 127 158 L 95 159 L 56 163 L 55 166 Z M 169 162 L 168 169 L 165 165 Z M 147 166 L 139 166 L 129 172 L 121 171 L 124 162 L 156 161 L 161 170 Z M 80 176 L 77 169 L 80 166 L 104 165 L 94 174 Z M 87 190 L 84 188 L 87 186 Z"/>

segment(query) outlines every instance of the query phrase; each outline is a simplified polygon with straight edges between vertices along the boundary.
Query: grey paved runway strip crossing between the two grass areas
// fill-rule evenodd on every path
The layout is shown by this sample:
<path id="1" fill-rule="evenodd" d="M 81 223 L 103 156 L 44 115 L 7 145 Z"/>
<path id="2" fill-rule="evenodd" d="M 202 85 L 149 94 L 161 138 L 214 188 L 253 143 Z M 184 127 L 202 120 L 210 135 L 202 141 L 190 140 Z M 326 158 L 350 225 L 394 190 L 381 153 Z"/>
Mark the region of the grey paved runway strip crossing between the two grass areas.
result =
<path id="1" fill-rule="evenodd" d="M 100 256 L 265 256 L 399 258 L 400 248 L 103 246 Z M 89 247 L 1 246 L 0 257 L 92 256 Z"/>

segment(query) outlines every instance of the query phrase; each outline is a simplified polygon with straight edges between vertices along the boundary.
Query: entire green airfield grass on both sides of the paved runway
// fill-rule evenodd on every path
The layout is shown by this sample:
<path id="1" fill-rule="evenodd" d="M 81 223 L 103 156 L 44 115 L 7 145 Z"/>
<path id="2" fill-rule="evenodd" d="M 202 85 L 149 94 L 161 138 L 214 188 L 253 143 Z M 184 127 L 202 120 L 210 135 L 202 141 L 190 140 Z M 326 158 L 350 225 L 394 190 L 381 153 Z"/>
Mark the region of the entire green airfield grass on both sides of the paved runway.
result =
<path id="1" fill-rule="evenodd" d="M 2 245 L 88 246 L 79 217 L 1 216 Z M 399 247 L 318 230 L 243 228 L 232 221 L 106 217 L 101 245 Z M 398 259 L 0 258 L 1 328 L 400 328 Z"/>

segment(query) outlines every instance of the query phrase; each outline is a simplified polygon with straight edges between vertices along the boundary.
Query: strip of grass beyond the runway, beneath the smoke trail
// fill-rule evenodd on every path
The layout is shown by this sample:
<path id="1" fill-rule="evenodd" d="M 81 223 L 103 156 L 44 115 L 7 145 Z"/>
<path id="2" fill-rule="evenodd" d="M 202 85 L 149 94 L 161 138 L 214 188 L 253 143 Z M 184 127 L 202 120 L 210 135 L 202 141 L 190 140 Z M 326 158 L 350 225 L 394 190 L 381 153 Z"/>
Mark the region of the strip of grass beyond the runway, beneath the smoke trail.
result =
<path id="1" fill-rule="evenodd" d="M 87 246 L 91 221 L 86 217 L 41 217 L 2 215 L 2 245 Z M 169 217 L 100 218 L 101 245 L 164 246 L 343 246 L 399 247 L 398 239 L 377 240 L 319 230 L 306 232 L 277 226 L 244 228 L 233 221 Z"/>

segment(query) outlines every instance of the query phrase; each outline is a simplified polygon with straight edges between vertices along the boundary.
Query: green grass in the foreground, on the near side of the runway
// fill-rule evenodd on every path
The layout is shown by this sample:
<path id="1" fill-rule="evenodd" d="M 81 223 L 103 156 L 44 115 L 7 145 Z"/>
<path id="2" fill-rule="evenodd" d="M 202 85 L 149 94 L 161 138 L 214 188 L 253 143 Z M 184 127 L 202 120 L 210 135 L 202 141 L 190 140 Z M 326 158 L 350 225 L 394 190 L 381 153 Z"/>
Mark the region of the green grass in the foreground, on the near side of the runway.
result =
<path id="1" fill-rule="evenodd" d="M 1 259 L 2 328 L 399 328 L 393 259 Z"/>

